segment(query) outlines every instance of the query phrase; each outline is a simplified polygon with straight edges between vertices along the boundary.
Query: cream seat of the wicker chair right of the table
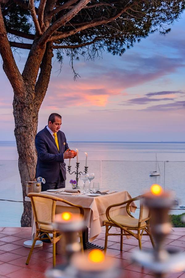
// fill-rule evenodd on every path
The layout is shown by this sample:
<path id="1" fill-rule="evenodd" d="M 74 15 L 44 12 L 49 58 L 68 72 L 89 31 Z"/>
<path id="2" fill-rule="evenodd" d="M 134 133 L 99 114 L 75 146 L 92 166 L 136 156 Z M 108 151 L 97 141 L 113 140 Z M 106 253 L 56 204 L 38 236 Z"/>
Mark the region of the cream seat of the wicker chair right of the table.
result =
<path id="1" fill-rule="evenodd" d="M 137 218 L 128 217 L 128 216 L 124 216 L 124 215 L 117 215 L 117 216 L 112 217 L 112 219 L 123 227 L 128 227 L 128 228 L 137 228 L 138 227 L 138 219 Z M 104 223 L 112 224 L 113 222 L 109 221 L 109 220 L 105 220 Z M 141 228 L 143 228 L 143 227 L 146 227 L 145 221 L 141 222 Z"/>

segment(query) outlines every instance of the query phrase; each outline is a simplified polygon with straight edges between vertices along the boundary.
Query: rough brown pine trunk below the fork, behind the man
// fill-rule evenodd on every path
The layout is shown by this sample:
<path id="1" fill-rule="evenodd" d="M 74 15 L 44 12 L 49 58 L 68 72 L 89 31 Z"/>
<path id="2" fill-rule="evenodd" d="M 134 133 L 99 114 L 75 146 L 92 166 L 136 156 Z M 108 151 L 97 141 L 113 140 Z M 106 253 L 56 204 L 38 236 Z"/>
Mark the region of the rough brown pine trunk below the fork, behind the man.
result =
<path id="1" fill-rule="evenodd" d="M 35 180 L 35 169 L 37 154 L 35 150 L 35 135 L 37 133 L 39 107 L 34 105 L 34 91 L 26 87 L 25 96 L 27 99 L 21 99 L 14 94 L 14 119 L 15 119 L 15 138 L 19 154 L 19 173 L 23 188 L 24 211 L 21 217 L 21 226 L 31 226 L 31 203 L 25 201 L 26 181 Z"/>

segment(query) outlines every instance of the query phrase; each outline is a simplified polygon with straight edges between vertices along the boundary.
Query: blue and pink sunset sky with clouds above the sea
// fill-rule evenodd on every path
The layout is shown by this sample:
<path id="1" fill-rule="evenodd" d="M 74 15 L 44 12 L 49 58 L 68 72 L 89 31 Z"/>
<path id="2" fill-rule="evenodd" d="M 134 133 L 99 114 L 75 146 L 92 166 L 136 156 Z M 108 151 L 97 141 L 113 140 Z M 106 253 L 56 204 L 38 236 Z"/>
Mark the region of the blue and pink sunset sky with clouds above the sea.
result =
<path id="1" fill-rule="evenodd" d="M 68 141 L 185 141 L 185 14 L 166 36 L 151 34 L 120 56 L 102 53 L 52 61 L 38 131 L 50 113 L 62 115 Z M 22 71 L 28 51 L 15 59 Z M 13 90 L 0 67 L 0 141 L 14 141 Z"/>

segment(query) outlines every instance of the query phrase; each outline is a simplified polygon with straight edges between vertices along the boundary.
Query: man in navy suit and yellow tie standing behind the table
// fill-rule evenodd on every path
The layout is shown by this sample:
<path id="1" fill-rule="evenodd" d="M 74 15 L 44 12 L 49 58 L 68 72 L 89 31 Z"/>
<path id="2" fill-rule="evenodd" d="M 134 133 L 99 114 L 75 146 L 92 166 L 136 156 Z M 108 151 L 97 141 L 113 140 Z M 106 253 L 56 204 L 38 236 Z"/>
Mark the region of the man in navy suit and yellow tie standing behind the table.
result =
<path id="1" fill-rule="evenodd" d="M 75 151 L 71 152 L 66 137 L 60 127 L 62 117 L 52 113 L 48 125 L 35 136 L 37 150 L 37 166 L 35 177 L 42 177 L 42 191 L 65 187 L 66 168 L 64 159 L 73 158 Z M 57 138 L 55 138 L 57 136 Z M 57 146 L 58 145 L 58 146 Z"/>

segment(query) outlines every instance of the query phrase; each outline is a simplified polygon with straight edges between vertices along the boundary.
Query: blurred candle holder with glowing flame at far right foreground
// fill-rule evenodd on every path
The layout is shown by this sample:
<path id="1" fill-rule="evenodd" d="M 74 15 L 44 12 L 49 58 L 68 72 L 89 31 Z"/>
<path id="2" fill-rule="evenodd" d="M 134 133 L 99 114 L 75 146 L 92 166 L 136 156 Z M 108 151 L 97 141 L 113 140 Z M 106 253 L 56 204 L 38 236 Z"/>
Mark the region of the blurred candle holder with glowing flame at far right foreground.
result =
<path id="1" fill-rule="evenodd" d="M 173 206 L 173 193 L 163 192 L 158 184 L 151 186 L 145 194 L 144 204 L 149 208 L 151 221 L 150 230 L 155 248 L 149 251 L 135 251 L 132 259 L 142 267 L 150 269 L 156 277 L 163 277 L 168 272 L 179 272 L 185 269 L 185 254 L 179 251 L 165 250 L 164 239 L 171 230 L 168 212 Z"/>

